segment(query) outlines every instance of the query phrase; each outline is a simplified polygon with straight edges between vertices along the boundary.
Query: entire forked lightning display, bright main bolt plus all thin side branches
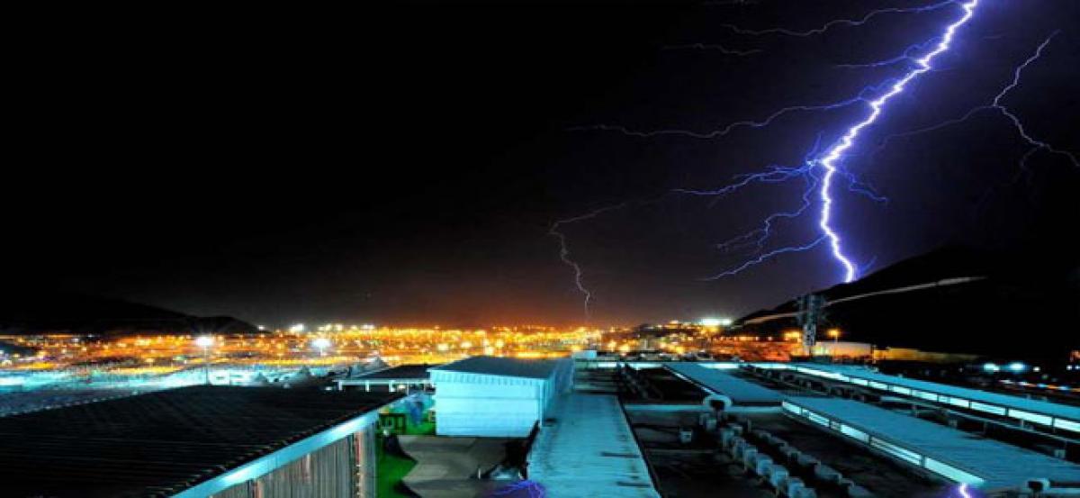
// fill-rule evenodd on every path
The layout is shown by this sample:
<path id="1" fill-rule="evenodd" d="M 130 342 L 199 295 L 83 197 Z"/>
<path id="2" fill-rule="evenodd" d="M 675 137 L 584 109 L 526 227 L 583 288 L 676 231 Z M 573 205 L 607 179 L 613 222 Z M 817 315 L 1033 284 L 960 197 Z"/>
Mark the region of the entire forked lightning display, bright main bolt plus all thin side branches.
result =
<path id="1" fill-rule="evenodd" d="M 867 198 L 886 202 L 887 199 L 877 194 L 872 187 L 862 184 L 859 178 L 850 171 L 843 167 L 845 161 L 849 158 L 855 157 L 858 154 L 858 149 L 862 148 L 859 142 L 864 134 L 863 132 L 873 126 L 886 112 L 888 105 L 897 95 L 903 93 L 908 85 L 918 79 L 920 76 L 934 70 L 934 62 L 941 54 L 949 51 L 953 43 L 954 37 L 957 31 L 968 24 L 975 15 L 975 11 L 980 5 L 980 0 L 967 0 L 963 2 L 949 0 L 945 2 L 934 3 L 920 8 L 906 8 L 906 9 L 883 9 L 878 11 L 873 11 L 862 18 L 859 19 L 837 19 L 826 23 L 824 26 L 807 31 L 796 31 L 786 28 L 772 28 L 765 30 L 748 30 L 741 29 L 737 27 L 730 27 L 734 31 L 742 35 L 786 35 L 796 37 L 808 37 L 820 35 L 833 27 L 837 26 L 860 26 L 869 22 L 873 17 L 887 14 L 887 13 L 916 13 L 916 12 L 928 12 L 932 10 L 939 10 L 949 5 L 959 6 L 958 17 L 954 18 L 949 24 L 947 24 L 940 36 L 932 40 L 913 44 L 908 46 L 899 56 L 873 63 L 861 63 L 861 64 L 847 64 L 841 67 L 855 68 L 855 67 L 880 67 L 880 66 L 891 66 L 900 65 L 901 63 L 907 64 L 907 67 L 903 70 L 902 76 L 899 78 L 887 80 L 879 83 L 876 86 L 869 86 L 860 92 L 859 95 L 848 98 L 845 100 L 839 100 L 832 104 L 812 104 L 812 105 L 797 105 L 789 106 L 777 110 L 762 119 L 759 120 L 743 120 L 731 122 L 720 129 L 707 131 L 707 132 L 694 132 L 688 130 L 654 130 L 654 131 L 636 131 L 622 125 L 611 125 L 611 124 L 597 124 L 592 126 L 578 126 L 570 129 L 571 131 L 611 131 L 618 132 L 627 136 L 651 138 L 660 136 L 676 136 L 676 137 L 688 137 L 698 139 L 717 139 L 726 137 L 727 135 L 733 133 L 737 130 L 742 129 L 764 129 L 772 124 L 774 121 L 784 117 L 788 113 L 794 112 L 810 112 L 810 111 L 827 111 L 840 108 L 848 108 L 854 105 L 865 105 L 866 113 L 862 119 L 851 124 L 847 130 L 839 135 L 839 138 L 833 143 L 824 152 L 819 153 L 816 146 L 804 160 L 804 162 L 798 166 L 791 165 L 769 165 L 762 171 L 756 173 L 747 173 L 742 175 L 737 175 L 734 180 L 724 187 L 712 188 L 712 189 L 692 189 L 692 188 L 677 188 L 672 189 L 669 194 L 688 194 L 688 196 L 700 196 L 700 197 L 714 197 L 714 202 L 720 198 L 727 197 L 734 193 L 743 188 L 753 185 L 765 185 L 765 184 L 784 184 L 792 179 L 802 178 L 805 181 L 805 189 L 802 190 L 802 202 L 801 204 L 791 208 L 788 211 L 781 211 L 773 213 L 766 217 L 762 223 L 755 229 L 742 233 L 740 235 L 732 237 L 727 241 L 720 242 L 716 245 L 717 248 L 724 251 L 731 251 L 737 247 L 743 247 L 753 244 L 756 250 L 756 255 L 752 258 L 744 260 L 743 263 L 735 265 L 734 267 L 720 271 L 712 277 L 704 280 L 716 280 L 725 277 L 730 277 L 742 272 L 743 270 L 753 268 L 759 264 L 762 264 L 773 257 L 795 253 L 802 251 L 810 251 L 822 245 L 829 247 L 832 257 L 837 261 L 841 269 L 841 279 L 843 282 L 850 282 L 858 278 L 859 273 L 868 266 L 864 268 L 859 268 L 853 263 L 852 258 L 848 256 L 843 246 L 843 238 L 841 238 L 840 232 L 835 227 L 835 216 L 834 207 L 836 200 L 834 199 L 834 186 L 836 181 L 842 178 L 846 181 L 848 190 L 854 193 L 866 196 Z M 1027 129 L 1024 126 L 1022 120 L 1017 115 L 1008 108 L 1003 104 L 1003 99 L 1007 97 L 1010 91 L 1016 88 L 1020 83 L 1021 76 L 1024 69 L 1028 65 L 1037 60 L 1043 52 L 1043 49 L 1050 43 L 1054 38 L 1055 33 L 1048 37 L 1036 50 L 1035 54 L 1028 57 L 1023 64 L 1016 67 L 1013 72 L 1012 81 L 1004 86 L 1001 92 L 999 92 L 994 99 L 984 106 L 977 107 L 970 110 L 964 116 L 956 119 L 951 119 L 939 124 L 927 126 L 923 129 L 913 130 L 900 134 L 893 134 L 886 136 L 882 143 L 879 145 L 877 150 L 886 147 L 890 140 L 896 137 L 910 136 L 920 133 L 927 133 L 934 130 L 940 130 L 942 127 L 963 122 L 970 119 L 972 116 L 978 112 L 993 110 L 1004 118 L 1007 118 L 1010 123 L 1016 129 L 1020 136 L 1031 146 L 1031 148 L 1023 156 L 1021 159 L 1021 165 L 1024 166 L 1028 158 L 1035 152 L 1040 150 L 1058 154 L 1068 159 L 1072 165 L 1080 167 L 1076 156 L 1067 150 L 1062 150 L 1053 147 L 1049 143 L 1039 140 L 1031 136 Z M 704 49 L 706 45 L 686 45 L 685 48 L 699 48 Z M 717 49 L 719 50 L 719 49 Z M 727 50 L 727 49 L 725 49 Z M 876 151 L 862 152 L 863 154 L 873 154 Z M 813 240 L 800 244 L 793 244 L 788 246 L 781 246 L 777 248 L 766 250 L 766 243 L 772 234 L 773 228 L 778 223 L 785 220 L 793 220 L 800 218 L 806 213 L 810 211 L 813 204 L 820 206 L 820 211 L 816 214 L 816 230 L 819 235 Z M 559 239 L 561 242 L 561 257 L 565 264 L 572 267 L 576 275 L 576 285 L 578 290 L 585 295 L 585 309 L 589 312 L 589 304 L 592 299 L 592 293 L 590 293 L 583 285 L 582 282 L 582 271 L 581 267 L 577 265 L 569 256 L 569 251 L 566 244 L 566 238 L 559 231 L 559 228 L 568 223 L 584 220 L 589 218 L 594 218 L 599 214 L 618 210 L 624 207 L 626 204 L 618 204 L 612 206 L 603 207 L 596 210 L 592 213 L 564 219 L 556 221 L 551 229 L 551 233 Z"/>

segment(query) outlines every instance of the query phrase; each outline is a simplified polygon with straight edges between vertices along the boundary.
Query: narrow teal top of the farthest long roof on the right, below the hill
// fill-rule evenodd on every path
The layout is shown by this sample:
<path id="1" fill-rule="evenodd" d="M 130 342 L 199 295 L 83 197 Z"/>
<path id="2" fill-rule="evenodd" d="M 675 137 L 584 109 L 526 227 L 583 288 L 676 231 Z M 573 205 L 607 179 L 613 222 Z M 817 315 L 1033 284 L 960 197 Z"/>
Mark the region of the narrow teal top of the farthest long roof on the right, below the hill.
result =
<path id="1" fill-rule="evenodd" d="M 892 383 L 910 389 L 918 389 L 921 391 L 945 394 L 947 396 L 962 398 L 967 400 L 973 400 L 998 406 L 1012 407 L 1026 412 L 1034 412 L 1038 414 L 1050 415 L 1052 417 L 1065 418 L 1068 420 L 1080 422 L 1080 407 L 1077 406 L 1050 403 L 1047 401 L 1028 400 L 1026 398 L 1012 396 L 1009 394 L 999 394 L 995 392 L 981 391 L 978 389 L 962 388 L 958 386 L 949 386 L 947 383 L 931 382 L 927 380 L 909 379 L 906 377 L 897 377 L 895 375 L 886 375 L 870 371 L 869 368 L 866 367 L 855 366 L 855 365 L 827 365 L 827 364 L 813 363 L 813 364 L 793 364 L 793 366 L 801 367 L 805 369 L 825 371 L 828 373 L 841 374 L 848 377 L 856 377 L 864 380 L 874 380 L 877 382 Z"/>

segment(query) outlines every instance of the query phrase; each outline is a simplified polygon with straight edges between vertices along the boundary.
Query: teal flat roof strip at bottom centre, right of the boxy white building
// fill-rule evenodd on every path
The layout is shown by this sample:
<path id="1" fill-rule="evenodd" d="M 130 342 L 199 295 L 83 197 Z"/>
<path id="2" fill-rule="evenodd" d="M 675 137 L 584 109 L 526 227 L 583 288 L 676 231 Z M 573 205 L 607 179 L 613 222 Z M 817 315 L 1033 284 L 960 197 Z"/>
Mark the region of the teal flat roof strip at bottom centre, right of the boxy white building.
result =
<path id="1" fill-rule="evenodd" d="M 529 480 L 551 496 L 660 498 L 618 398 L 572 393 L 556 406 L 528 455 Z"/>

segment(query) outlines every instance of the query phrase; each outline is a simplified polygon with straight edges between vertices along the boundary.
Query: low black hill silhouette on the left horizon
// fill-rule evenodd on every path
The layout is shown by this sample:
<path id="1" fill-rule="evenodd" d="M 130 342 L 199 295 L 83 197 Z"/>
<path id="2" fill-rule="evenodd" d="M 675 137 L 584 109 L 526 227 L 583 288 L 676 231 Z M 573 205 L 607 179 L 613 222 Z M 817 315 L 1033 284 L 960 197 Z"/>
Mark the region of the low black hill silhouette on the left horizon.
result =
<path id="1" fill-rule="evenodd" d="M 0 294 L 3 334 L 188 334 L 255 329 L 231 317 L 193 317 L 121 299 L 32 290 Z"/>

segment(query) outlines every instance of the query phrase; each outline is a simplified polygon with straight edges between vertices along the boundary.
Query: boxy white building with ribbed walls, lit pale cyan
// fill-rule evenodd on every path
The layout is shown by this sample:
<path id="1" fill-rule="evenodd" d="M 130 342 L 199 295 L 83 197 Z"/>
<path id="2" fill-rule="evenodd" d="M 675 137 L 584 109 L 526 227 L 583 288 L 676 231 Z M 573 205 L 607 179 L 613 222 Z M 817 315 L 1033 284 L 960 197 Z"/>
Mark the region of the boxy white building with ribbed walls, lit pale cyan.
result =
<path id="1" fill-rule="evenodd" d="M 436 434 L 524 438 L 570 390 L 573 362 L 472 356 L 429 372 Z"/>

